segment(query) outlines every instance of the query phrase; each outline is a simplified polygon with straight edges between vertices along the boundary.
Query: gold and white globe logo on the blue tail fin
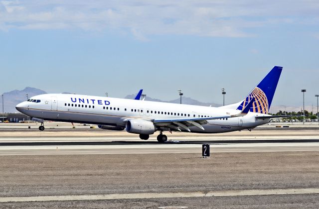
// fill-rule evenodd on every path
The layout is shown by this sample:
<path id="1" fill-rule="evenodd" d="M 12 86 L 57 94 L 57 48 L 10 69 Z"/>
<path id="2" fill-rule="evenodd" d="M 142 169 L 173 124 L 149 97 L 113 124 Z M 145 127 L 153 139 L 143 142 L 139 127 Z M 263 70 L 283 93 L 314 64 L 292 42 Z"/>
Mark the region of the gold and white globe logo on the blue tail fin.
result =
<path id="1" fill-rule="evenodd" d="M 255 102 L 253 103 L 253 107 L 250 108 L 250 111 L 268 114 L 268 100 L 266 94 L 258 87 L 255 87 L 255 89 L 246 97 L 237 109 L 244 109 L 253 98 L 255 98 Z"/>

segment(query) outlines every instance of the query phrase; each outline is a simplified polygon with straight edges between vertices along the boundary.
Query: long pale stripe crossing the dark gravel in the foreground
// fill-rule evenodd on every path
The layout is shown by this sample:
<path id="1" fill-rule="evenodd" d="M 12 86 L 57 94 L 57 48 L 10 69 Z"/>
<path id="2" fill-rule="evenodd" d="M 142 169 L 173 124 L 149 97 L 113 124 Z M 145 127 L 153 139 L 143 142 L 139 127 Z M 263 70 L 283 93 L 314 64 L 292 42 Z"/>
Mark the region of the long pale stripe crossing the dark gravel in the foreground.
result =
<path id="1" fill-rule="evenodd" d="M 35 196 L 35 197 L 3 197 L 0 203 L 8 202 L 43 202 L 43 201 L 88 201 L 117 199 L 154 199 L 154 198 L 204 198 L 258 195 L 297 195 L 319 194 L 319 188 L 305 189 L 274 189 L 274 190 L 227 190 L 208 192 L 167 192 L 167 193 L 128 193 L 108 195 L 65 195 L 65 196 Z"/>

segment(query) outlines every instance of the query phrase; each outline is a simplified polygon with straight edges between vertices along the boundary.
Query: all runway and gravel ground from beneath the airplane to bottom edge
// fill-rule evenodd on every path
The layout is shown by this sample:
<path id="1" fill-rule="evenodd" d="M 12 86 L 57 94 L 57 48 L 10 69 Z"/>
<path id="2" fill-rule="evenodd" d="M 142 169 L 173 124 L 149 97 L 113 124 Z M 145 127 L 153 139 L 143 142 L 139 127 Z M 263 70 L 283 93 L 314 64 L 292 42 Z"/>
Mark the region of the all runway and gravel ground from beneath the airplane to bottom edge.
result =
<path id="1" fill-rule="evenodd" d="M 0 208 L 319 208 L 318 128 L 167 136 L 1 129 Z"/>

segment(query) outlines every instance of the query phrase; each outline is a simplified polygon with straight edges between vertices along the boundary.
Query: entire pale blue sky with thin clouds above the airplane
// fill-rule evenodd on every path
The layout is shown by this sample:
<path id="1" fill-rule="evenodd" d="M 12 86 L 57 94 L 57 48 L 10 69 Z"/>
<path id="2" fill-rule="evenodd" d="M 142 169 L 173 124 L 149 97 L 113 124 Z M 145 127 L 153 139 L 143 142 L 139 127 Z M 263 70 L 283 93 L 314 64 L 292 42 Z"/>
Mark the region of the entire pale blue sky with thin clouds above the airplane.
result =
<path id="1" fill-rule="evenodd" d="M 273 104 L 317 105 L 318 0 L 0 1 L 0 92 L 242 100 L 283 66 Z"/>

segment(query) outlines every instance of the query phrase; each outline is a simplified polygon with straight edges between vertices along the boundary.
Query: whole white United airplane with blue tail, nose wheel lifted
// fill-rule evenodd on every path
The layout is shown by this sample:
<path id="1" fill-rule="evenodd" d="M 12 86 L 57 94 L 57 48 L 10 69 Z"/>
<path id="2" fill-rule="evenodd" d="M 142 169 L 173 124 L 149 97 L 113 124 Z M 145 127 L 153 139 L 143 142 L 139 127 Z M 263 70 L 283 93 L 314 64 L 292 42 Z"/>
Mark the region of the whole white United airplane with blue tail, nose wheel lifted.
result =
<path id="1" fill-rule="evenodd" d="M 244 100 L 220 107 L 171 104 L 74 94 L 43 94 L 16 105 L 16 109 L 41 123 L 44 120 L 97 124 L 107 130 L 124 130 L 147 140 L 157 131 L 221 133 L 251 129 L 269 123 L 268 114 L 282 72 L 275 66 Z"/>

